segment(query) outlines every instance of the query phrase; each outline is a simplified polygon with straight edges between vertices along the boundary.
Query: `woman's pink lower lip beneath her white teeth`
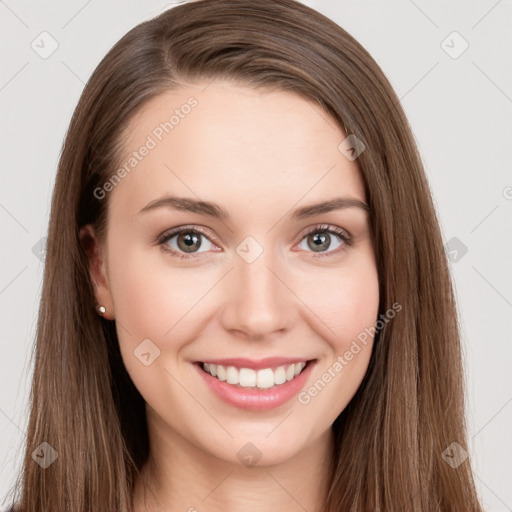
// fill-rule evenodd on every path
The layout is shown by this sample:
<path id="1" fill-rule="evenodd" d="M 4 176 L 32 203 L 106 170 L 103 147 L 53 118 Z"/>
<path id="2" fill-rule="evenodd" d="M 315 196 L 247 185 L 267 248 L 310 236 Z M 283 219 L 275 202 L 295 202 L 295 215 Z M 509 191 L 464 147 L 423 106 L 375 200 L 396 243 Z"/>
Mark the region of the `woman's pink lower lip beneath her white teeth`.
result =
<path id="1" fill-rule="evenodd" d="M 205 372 L 201 367 L 202 363 L 194 363 L 194 366 L 210 389 L 224 402 L 240 409 L 266 411 L 283 405 L 297 395 L 304 387 L 315 364 L 316 360 L 309 361 L 297 377 L 261 390 L 235 387 Z"/>

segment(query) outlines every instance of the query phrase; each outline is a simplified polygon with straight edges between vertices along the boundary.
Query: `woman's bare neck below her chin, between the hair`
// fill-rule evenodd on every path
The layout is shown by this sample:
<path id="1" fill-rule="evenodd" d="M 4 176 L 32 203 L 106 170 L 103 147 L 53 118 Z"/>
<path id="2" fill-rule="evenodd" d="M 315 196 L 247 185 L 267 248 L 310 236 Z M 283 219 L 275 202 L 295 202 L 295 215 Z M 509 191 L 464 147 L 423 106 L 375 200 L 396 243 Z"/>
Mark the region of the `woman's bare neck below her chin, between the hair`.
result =
<path id="1" fill-rule="evenodd" d="M 245 466 L 148 422 L 150 456 L 136 481 L 133 512 L 321 512 L 334 450 L 332 429 L 272 465 Z M 279 508 L 278 508 L 279 507 Z"/>

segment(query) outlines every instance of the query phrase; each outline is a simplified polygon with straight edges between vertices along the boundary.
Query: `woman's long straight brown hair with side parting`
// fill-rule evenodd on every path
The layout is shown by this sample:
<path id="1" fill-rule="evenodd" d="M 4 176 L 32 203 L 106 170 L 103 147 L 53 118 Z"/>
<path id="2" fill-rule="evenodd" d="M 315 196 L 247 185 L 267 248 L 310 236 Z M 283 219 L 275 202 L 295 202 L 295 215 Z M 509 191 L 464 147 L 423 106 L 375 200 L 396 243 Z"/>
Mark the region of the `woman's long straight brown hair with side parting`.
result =
<path id="1" fill-rule="evenodd" d="M 80 228 L 105 234 L 123 130 L 148 100 L 194 80 L 225 78 L 314 99 L 366 149 L 357 159 L 375 236 L 380 313 L 365 378 L 332 428 L 322 510 L 481 512 L 466 448 L 464 374 L 452 282 L 423 166 L 399 100 L 345 30 L 294 0 L 186 3 L 141 23 L 87 83 L 67 133 L 48 229 L 30 420 L 18 482 L 23 512 L 128 512 L 149 455 L 144 400 L 115 324 L 94 310 Z M 340 141 L 341 142 L 341 141 Z M 48 443 L 57 460 L 32 454 Z M 326 461 L 326 464 L 328 461 Z"/>

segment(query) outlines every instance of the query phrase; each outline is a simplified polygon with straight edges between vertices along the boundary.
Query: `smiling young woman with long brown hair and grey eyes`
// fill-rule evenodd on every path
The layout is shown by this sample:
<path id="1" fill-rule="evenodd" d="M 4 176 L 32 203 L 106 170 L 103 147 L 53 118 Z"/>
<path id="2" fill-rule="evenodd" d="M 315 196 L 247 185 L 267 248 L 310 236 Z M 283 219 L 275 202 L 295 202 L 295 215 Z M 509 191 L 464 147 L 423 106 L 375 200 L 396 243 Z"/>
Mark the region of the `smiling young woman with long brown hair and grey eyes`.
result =
<path id="1" fill-rule="evenodd" d="M 59 164 L 19 510 L 481 511 L 462 384 L 368 53 L 293 0 L 124 36 Z"/>

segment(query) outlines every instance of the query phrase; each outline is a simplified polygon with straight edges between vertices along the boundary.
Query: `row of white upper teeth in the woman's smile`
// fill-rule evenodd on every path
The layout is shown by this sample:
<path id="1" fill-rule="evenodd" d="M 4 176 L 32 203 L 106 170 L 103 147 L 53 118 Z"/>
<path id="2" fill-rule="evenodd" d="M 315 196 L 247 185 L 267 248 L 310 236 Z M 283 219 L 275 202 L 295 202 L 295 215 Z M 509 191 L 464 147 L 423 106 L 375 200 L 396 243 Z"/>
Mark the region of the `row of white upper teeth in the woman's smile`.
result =
<path id="1" fill-rule="evenodd" d="M 217 377 L 217 379 L 226 381 L 228 384 L 243 388 L 268 389 L 297 377 L 305 366 L 306 363 L 302 362 L 279 366 L 278 368 L 253 370 L 251 368 L 203 363 L 203 370 L 212 377 Z"/>

